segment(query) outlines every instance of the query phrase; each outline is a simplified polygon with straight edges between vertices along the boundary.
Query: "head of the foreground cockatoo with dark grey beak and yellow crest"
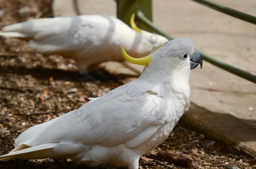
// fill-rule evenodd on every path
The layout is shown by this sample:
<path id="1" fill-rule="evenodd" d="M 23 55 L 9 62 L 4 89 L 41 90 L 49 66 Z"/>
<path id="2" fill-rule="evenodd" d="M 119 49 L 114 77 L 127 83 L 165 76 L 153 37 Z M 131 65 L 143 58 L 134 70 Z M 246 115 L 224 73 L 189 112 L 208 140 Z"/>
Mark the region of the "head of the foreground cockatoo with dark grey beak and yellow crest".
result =
<path id="1" fill-rule="evenodd" d="M 155 48 L 150 55 L 143 58 L 132 58 L 125 49 L 122 53 L 128 62 L 145 65 L 144 71 L 176 75 L 190 74 L 190 70 L 196 68 L 199 64 L 202 68 L 203 60 L 200 54 L 194 49 L 193 43 L 187 38 L 177 38 L 162 43 Z M 178 73 L 177 73 L 178 72 Z"/>

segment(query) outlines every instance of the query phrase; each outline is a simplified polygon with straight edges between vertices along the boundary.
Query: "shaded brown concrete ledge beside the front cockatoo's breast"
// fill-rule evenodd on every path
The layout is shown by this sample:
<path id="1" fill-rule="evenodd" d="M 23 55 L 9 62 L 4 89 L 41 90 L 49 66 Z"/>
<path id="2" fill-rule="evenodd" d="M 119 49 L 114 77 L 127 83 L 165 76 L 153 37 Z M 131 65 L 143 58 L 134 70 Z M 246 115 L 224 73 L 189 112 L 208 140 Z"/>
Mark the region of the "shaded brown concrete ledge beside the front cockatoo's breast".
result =
<path id="1" fill-rule="evenodd" d="M 256 129 L 243 119 L 191 103 L 183 122 L 212 139 L 225 142 L 230 150 L 243 151 L 256 159 Z"/>

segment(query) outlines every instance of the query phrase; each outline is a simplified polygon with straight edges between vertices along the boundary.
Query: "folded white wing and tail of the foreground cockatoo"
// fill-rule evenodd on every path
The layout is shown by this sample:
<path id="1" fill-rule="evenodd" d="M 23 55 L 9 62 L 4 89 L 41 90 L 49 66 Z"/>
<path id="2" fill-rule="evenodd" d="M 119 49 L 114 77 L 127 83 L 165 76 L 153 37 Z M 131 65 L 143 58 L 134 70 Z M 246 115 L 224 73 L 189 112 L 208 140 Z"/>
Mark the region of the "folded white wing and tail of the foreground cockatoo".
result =
<path id="1" fill-rule="evenodd" d="M 128 149 L 138 147 L 140 155 L 149 151 L 160 143 L 152 142 L 146 145 L 145 142 L 160 132 L 160 126 L 165 123 L 172 125 L 172 130 L 176 119 L 175 116 L 171 117 L 175 114 L 175 109 L 170 108 L 170 101 L 148 93 L 147 86 L 139 92 L 136 91 L 134 95 L 133 91 L 143 84 L 144 81 L 137 80 L 120 86 L 77 110 L 29 128 L 16 139 L 16 148 L 9 154 L 0 156 L 0 161 L 17 157 L 68 157 L 76 161 L 99 161 L 102 164 L 104 161 L 97 153 L 102 154 L 103 150 L 101 148 L 99 152 L 94 151 L 97 146 L 106 148 L 105 151 L 120 145 Z M 122 104 L 123 102 L 125 104 Z M 157 106 L 152 109 L 152 105 Z M 166 135 L 170 131 L 167 131 Z M 156 141 L 157 139 L 155 138 Z M 140 147 L 142 144 L 145 144 L 144 147 Z M 118 148 L 113 151 L 118 151 Z"/>

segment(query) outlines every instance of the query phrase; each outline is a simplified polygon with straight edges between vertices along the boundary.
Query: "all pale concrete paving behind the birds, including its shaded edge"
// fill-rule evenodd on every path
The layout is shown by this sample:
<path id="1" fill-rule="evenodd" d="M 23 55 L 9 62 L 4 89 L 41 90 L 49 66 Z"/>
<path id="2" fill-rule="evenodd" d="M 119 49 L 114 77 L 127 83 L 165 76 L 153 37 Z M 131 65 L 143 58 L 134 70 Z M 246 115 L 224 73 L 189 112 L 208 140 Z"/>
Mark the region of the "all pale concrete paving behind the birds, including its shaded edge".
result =
<path id="1" fill-rule="evenodd" d="M 256 15 L 255 0 L 214 2 Z M 77 0 L 77 3 L 84 15 L 116 13 L 114 0 Z M 74 15 L 66 12 L 67 8 L 75 9 L 68 4 L 55 0 L 54 11 L 59 11 L 56 15 Z M 204 53 L 256 74 L 256 25 L 190 0 L 153 0 L 153 21 L 174 37 L 190 38 Z M 133 76 L 143 69 L 115 62 L 102 66 L 115 74 Z M 256 157 L 256 85 L 204 62 L 202 70 L 191 72 L 191 87 L 193 103 L 184 118 Z"/>

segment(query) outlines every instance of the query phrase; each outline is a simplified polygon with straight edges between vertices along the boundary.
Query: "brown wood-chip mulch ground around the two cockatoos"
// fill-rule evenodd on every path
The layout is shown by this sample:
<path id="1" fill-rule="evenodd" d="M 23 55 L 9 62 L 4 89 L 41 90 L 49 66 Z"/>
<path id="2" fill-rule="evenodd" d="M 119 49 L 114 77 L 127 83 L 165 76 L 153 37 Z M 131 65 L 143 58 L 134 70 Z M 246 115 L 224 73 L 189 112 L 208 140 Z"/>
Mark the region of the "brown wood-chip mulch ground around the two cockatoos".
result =
<path id="1" fill-rule="evenodd" d="M 49 17 L 50 4 L 50 0 L 0 0 L 0 27 L 29 18 Z M 99 73 L 107 72 L 99 70 Z M 30 126 L 61 116 L 86 103 L 88 97 L 102 96 L 127 81 L 125 77 L 110 74 L 97 82 L 80 82 L 78 78 L 78 67 L 72 59 L 44 56 L 29 49 L 25 41 L 0 37 L 0 154 L 13 149 L 13 139 Z M 163 144 L 141 158 L 140 166 L 143 169 L 253 169 L 256 161 L 230 154 L 224 145 L 179 123 Z M 69 159 L 15 159 L 0 162 L 0 168 L 87 167 Z"/>

